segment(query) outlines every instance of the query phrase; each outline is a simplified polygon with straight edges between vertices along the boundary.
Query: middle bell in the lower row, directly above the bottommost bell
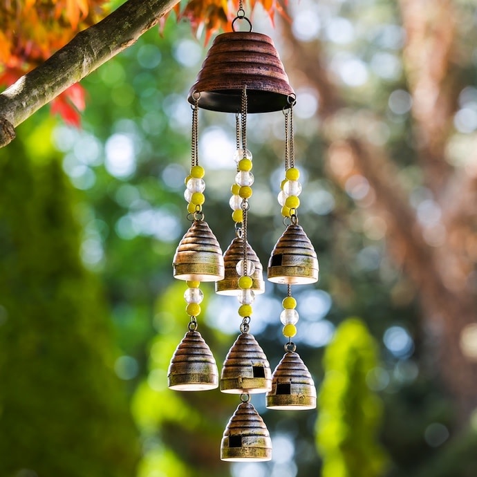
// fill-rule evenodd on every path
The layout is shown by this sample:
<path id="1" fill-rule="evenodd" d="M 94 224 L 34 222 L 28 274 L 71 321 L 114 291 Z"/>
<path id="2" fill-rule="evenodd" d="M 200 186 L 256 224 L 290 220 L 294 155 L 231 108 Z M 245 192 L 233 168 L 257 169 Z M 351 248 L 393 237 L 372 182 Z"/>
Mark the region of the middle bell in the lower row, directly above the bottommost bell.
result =
<path id="1" fill-rule="evenodd" d="M 263 349 L 250 333 L 241 333 L 223 363 L 223 393 L 266 393 L 272 389 L 272 371 Z"/>

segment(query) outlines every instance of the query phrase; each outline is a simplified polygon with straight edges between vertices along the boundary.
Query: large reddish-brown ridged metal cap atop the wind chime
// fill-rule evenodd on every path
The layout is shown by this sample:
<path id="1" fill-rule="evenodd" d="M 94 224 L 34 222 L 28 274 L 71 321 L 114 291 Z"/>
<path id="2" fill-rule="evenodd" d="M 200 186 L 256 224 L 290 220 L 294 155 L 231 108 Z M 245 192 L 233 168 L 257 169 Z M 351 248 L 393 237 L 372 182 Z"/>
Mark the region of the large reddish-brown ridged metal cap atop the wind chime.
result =
<path id="1" fill-rule="evenodd" d="M 194 104 L 194 93 L 200 93 L 200 108 L 239 113 L 244 85 L 249 113 L 289 108 L 288 98 L 294 96 L 270 37 L 254 32 L 223 33 L 210 47 L 188 100 Z"/>

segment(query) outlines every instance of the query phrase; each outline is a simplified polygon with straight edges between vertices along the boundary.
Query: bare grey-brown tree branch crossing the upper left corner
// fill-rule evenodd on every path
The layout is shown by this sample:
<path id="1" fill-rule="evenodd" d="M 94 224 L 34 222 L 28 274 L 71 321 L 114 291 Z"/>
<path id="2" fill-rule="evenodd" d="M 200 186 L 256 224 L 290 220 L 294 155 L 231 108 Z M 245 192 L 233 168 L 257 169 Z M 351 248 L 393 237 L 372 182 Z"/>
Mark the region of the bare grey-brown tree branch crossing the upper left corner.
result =
<path id="1" fill-rule="evenodd" d="M 0 147 L 15 127 L 71 85 L 128 48 L 180 0 L 128 0 L 102 21 L 79 32 L 46 62 L 0 94 Z"/>

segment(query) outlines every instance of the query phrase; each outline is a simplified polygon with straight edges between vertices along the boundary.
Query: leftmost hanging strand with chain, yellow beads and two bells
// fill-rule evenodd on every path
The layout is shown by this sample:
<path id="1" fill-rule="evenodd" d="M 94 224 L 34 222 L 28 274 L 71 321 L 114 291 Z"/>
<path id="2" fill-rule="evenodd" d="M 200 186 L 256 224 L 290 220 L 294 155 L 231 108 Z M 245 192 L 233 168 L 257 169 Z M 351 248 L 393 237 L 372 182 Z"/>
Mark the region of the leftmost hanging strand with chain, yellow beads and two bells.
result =
<path id="1" fill-rule="evenodd" d="M 187 200 L 188 218 L 192 225 L 180 241 L 174 255 L 174 277 L 185 280 L 184 299 L 189 315 L 189 330 L 180 342 L 169 364 L 168 386 L 176 391 L 203 391 L 218 386 L 218 370 L 209 346 L 197 331 L 197 317 L 203 292 L 200 281 L 223 279 L 224 265 L 220 245 L 202 211 L 205 203 L 205 171 L 198 164 L 198 98 L 192 106 L 191 169 L 185 178 L 184 197 Z"/>

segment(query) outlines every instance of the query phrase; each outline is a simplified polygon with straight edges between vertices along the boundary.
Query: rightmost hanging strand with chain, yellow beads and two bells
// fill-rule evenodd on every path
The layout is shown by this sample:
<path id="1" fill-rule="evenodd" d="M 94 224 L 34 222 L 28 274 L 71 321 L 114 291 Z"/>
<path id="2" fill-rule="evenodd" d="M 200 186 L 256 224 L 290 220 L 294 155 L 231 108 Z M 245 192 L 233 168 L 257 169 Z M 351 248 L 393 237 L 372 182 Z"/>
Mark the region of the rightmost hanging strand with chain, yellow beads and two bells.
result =
<path id="1" fill-rule="evenodd" d="M 272 390 L 266 396 L 268 409 L 281 410 L 315 409 L 317 405 L 315 383 L 301 357 L 295 353 L 297 346 L 292 342 L 292 337 L 297 334 L 296 324 L 299 319 L 295 309 L 297 300 L 292 297 L 292 283 L 312 283 L 318 279 L 315 250 L 298 225 L 301 184 L 298 180 L 299 170 L 294 167 L 293 106 L 294 101 L 288 111 L 283 111 L 286 137 L 285 179 L 281 182 L 278 197 L 283 222 L 290 221 L 290 225 L 275 245 L 268 265 L 268 279 L 287 285 L 287 296 L 282 301 L 283 311 L 280 314 L 283 336 L 288 338 L 284 346 L 286 353 L 272 374 Z"/>

